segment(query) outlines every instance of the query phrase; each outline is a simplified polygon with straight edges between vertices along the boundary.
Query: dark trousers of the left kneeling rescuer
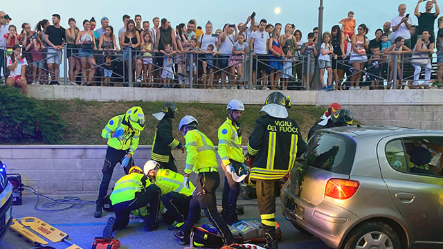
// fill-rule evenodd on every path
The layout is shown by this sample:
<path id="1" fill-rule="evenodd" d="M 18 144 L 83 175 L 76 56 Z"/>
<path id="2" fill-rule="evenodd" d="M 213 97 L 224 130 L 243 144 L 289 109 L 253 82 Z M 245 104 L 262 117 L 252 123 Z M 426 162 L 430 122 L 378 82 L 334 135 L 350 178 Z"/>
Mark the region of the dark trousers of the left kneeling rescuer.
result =
<path id="1" fill-rule="evenodd" d="M 135 199 L 131 201 L 124 201 L 114 205 L 114 213 L 116 214 L 116 222 L 112 230 L 116 231 L 127 227 L 129 223 L 129 214 L 133 210 L 147 207 L 149 203 L 149 214 L 145 222 L 147 225 L 157 222 L 160 208 L 161 190 L 154 184 L 149 185 L 145 191 L 136 193 Z"/>

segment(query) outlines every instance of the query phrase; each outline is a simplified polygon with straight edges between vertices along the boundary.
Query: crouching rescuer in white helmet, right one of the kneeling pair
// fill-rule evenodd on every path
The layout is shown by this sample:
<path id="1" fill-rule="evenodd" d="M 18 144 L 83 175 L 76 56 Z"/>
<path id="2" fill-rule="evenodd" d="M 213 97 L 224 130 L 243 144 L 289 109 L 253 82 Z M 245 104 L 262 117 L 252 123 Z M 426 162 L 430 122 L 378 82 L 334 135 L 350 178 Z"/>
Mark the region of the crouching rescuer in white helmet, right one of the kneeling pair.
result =
<path id="1" fill-rule="evenodd" d="M 143 172 L 155 185 L 161 189 L 161 202 L 172 216 L 174 223 L 169 230 L 179 229 L 188 218 L 189 203 L 195 187 L 189 183 L 189 189 L 183 185 L 185 177 L 182 174 L 172 172 L 170 169 L 161 169 L 160 164 L 154 160 L 148 160 L 143 167 Z"/>

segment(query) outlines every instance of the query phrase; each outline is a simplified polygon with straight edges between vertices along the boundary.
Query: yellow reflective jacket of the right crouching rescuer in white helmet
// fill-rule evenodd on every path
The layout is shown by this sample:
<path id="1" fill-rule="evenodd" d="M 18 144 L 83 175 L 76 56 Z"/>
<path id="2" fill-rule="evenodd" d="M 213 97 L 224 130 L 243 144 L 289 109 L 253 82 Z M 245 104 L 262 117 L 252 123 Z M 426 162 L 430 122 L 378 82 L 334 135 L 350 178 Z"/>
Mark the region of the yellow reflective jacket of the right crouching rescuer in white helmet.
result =
<path id="1" fill-rule="evenodd" d="M 161 189 L 161 195 L 168 194 L 169 192 L 178 192 L 186 196 L 192 196 L 194 191 L 194 185 L 189 182 L 190 189 L 187 190 L 183 185 L 185 177 L 182 174 L 173 172 L 169 169 L 159 169 L 155 177 L 155 185 Z"/>

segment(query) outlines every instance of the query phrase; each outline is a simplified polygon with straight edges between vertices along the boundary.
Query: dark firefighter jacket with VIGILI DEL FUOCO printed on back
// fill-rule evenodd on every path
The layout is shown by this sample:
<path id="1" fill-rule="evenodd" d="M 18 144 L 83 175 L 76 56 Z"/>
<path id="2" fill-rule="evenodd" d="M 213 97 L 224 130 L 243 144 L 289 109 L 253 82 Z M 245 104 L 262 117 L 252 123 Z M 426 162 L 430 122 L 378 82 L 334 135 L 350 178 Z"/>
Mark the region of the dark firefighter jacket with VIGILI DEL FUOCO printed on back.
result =
<path id="1" fill-rule="evenodd" d="M 257 118 L 248 142 L 248 154 L 254 158 L 250 178 L 283 178 L 305 150 L 296 121 L 267 114 Z"/>

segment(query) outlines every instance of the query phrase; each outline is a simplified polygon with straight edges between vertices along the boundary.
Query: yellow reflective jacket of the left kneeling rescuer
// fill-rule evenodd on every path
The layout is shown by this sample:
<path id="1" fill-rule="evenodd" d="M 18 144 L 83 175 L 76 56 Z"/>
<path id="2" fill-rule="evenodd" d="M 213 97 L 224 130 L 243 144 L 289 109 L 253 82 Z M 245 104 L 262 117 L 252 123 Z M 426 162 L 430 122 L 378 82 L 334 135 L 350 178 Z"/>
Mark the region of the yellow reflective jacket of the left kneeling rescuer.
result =
<path id="1" fill-rule="evenodd" d="M 134 200 L 136 193 L 142 192 L 150 184 L 151 182 L 144 174 L 127 174 L 118 179 L 109 199 L 111 199 L 112 205 Z"/>

